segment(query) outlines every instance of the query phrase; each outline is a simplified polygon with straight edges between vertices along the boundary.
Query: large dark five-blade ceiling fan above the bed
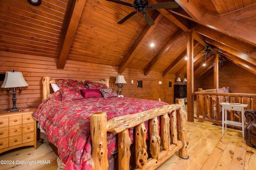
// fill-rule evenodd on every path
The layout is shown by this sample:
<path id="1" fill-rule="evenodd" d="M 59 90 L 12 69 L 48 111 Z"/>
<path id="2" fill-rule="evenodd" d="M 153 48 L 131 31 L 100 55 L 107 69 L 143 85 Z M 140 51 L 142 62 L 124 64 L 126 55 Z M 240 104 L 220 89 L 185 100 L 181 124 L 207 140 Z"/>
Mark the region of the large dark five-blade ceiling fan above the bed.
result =
<path id="1" fill-rule="evenodd" d="M 122 1 L 122 0 L 107 0 L 110 2 L 115 2 L 118 4 L 134 7 L 136 10 L 125 16 L 122 20 L 120 20 L 117 24 L 122 24 L 126 20 L 128 20 L 130 17 L 132 17 L 137 12 L 142 12 L 142 16 L 145 18 L 146 22 L 149 26 L 154 25 L 154 21 L 152 20 L 151 16 L 146 12 L 144 9 L 148 10 L 156 10 L 156 9 L 168 9 L 168 8 L 178 8 L 179 5 L 177 2 L 162 2 L 162 3 L 156 3 L 156 4 L 149 4 L 148 0 L 134 0 L 133 4 L 130 2 Z"/>

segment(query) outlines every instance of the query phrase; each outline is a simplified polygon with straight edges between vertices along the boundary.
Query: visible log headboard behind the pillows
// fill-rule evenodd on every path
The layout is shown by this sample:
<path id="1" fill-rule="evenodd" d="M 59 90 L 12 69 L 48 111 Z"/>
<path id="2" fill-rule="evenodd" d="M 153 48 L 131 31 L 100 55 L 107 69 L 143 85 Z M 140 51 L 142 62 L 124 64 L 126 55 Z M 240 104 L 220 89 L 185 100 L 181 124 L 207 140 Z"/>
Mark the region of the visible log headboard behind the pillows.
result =
<path id="1" fill-rule="evenodd" d="M 83 83 L 85 83 L 85 80 L 82 80 Z M 94 81 L 97 83 L 102 83 L 105 84 L 108 88 L 109 88 L 109 79 L 104 79 L 104 80 L 100 80 L 100 81 Z M 51 84 L 56 84 L 55 79 L 51 79 L 51 77 L 44 77 L 42 80 L 42 101 L 44 101 L 45 99 L 47 99 L 47 97 L 51 94 L 50 93 L 50 89 L 51 89 Z"/>

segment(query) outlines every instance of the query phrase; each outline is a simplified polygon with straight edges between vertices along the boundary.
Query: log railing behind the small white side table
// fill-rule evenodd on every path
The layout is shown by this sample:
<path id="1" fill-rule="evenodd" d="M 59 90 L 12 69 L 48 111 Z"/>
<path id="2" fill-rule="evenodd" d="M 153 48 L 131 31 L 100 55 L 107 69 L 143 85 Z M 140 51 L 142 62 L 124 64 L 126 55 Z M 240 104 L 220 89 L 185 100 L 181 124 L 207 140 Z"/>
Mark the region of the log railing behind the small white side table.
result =
<path id="1" fill-rule="evenodd" d="M 196 116 L 194 118 L 220 125 L 222 124 L 221 102 L 248 104 L 247 109 L 252 109 L 252 98 L 256 97 L 256 94 L 213 92 L 213 89 L 210 92 L 198 89 L 194 94 L 196 95 Z M 247 99 L 247 102 L 244 102 L 244 99 Z M 230 121 L 241 122 L 240 112 L 238 114 L 234 111 L 229 112 Z"/>

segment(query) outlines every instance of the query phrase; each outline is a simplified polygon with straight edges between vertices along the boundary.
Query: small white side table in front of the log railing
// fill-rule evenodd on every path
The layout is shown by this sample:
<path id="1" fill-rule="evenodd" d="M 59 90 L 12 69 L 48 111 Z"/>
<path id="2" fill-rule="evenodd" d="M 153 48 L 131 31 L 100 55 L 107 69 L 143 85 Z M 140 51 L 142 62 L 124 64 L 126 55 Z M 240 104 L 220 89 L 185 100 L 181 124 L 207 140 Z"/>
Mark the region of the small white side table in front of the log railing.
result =
<path id="1" fill-rule="evenodd" d="M 227 130 L 227 125 L 234 125 L 236 127 L 242 127 L 242 133 L 243 133 L 243 138 L 244 138 L 244 111 L 248 105 L 246 104 L 240 104 L 240 103 L 220 103 L 222 105 L 222 134 L 224 133 L 224 124 L 225 126 L 225 131 Z M 235 122 L 235 121 L 228 121 L 227 120 L 227 110 L 231 111 L 240 111 L 241 112 L 241 117 L 242 117 L 242 122 Z"/>

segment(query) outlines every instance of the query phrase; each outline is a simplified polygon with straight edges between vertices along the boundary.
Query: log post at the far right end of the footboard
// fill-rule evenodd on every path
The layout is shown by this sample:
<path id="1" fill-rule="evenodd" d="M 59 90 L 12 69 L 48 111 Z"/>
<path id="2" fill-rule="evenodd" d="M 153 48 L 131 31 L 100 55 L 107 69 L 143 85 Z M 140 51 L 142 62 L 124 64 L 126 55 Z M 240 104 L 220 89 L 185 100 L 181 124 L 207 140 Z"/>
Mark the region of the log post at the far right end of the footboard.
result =
<path id="1" fill-rule="evenodd" d="M 188 138 L 186 130 L 186 111 L 184 99 L 176 99 L 176 103 L 180 104 L 180 109 L 177 114 L 178 119 L 178 139 L 182 141 L 182 148 L 179 150 L 181 158 L 188 158 Z"/>

